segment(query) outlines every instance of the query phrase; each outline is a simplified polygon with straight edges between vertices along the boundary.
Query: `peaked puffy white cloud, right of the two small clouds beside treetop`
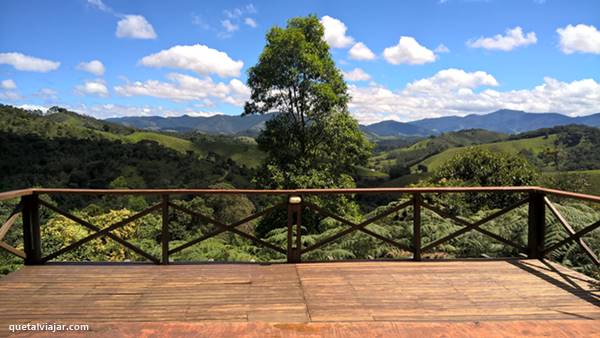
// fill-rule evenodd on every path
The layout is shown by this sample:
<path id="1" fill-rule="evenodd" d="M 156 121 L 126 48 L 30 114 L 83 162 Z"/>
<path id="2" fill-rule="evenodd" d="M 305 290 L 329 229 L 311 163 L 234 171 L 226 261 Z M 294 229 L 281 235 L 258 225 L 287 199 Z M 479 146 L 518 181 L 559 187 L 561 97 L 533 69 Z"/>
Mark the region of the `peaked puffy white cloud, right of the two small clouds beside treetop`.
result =
<path id="1" fill-rule="evenodd" d="M 415 38 L 410 36 L 401 36 L 397 45 L 384 49 L 383 57 L 393 65 L 422 65 L 434 62 L 436 59 L 431 50 L 421 46 Z"/>

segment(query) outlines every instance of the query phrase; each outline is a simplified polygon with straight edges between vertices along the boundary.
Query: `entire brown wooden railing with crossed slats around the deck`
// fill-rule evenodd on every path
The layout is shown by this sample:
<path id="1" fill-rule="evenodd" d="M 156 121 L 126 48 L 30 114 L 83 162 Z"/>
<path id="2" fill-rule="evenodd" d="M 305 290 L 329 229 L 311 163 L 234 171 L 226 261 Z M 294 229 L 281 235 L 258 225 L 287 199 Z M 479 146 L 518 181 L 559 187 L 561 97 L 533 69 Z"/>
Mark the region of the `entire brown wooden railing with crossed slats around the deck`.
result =
<path id="1" fill-rule="evenodd" d="M 453 215 L 442 208 L 426 202 L 423 198 L 425 194 L 458 194 L 458 193 L 520 193 L 525 196 L 522 200 L 492 213 L 476 222 L 469 222 L 461 217 Z M 230 224 L 225 224 L 219 220 L 208 217 L 198 211 L 190 210 L 186 207 L 173 203 L 172 196 L 177 195 L 278 195 L 285 199 L 275 205 L 268 207 L 253 215 L 247 216 L 241 220 Z M 400 194 L 409 195 L 410 199 L 399 205 L 388 208 L 387 210 L 378 213 L 377 215 L 363 220 L 362 222 L 349 221 L 333 211 L 325 210 L 324 208 L 311 203 L 310 197 L 314 195 L 351 195 L 351 194 Z M 160 197 L 160 203 L 153 205 L 127 219 L 121 220 L 114 224 L 99 227 L 91 224 L 68 211 L 60 209 L 58 206 L 44 201 L 40 198 L 41 195 L 145 195 Z M 510 247 L 516 248 L 519 252 L 527 255 L 529 258 L 543 258 L 551 251 L 571 242 L 579 244 L 583 252 L 590 258 L 594 264 L 600 266 L 600 262 L 596 254 L 584 242 L 583 236 L 600 227 L 600 220 L 590 224 L 578 231 L 567 222 L 561 215 L 556 206 L 550 201 L 548 196 L 556 196 L 561 198 L 572 198 L 593 203 L 600 202 L 600 196 L 585 195 L 579 193 L 565 192 L 560 190 L 546 189 L 541 187 L 443 187 L 443 188 L 375 188 L 375 189 L 300 189 L 300 190 L 214 190 L 214 189 L 25 189 L 0 193 L 0 201 L 20 198 L 20 203 L 10 213 L 7 221 L 0 227 L 0 248 L 16 255 L 25 260 L 25 264 L 37 265 L 44 264 L 54 260 L 61 255 L 72 251 L 81 245 L 88 243 L 101 236 L 106 236 L 124 247 L 136 252 L 140 256 L 156 264 L 168 264 L 169 257 L 177 252 L 180 252 L 188 247 L 215 237 L 225 232 L 231 232 L 241 237 L 244 237 L 256 245 L 268 248 L 275 252 L 281 253 L 287 257 L 288 262 L 301 262 L 302 255 L 307 254 L 318 248 L 338 240 L 350 233 L 360 231 L 366 235 L 379 239 L 396 248 L 409 251 L 413 254 L 414 260 L 421 260 L 423 252 L 432 251 L 435 247 L 446 243 L 466 232 L 477 231 L 483 235 L 489 236 L 496 241 L 504 243 Z M 501 237 L 500 235 L 483 229 L 482 225 L 496 219 L 507 212 L 514 210 L 520 206 L 528 205 L 528 239 L 526 246 L 515 243 L 511 240 Z M 287 247 L 282 248 L 275 244 L 269 243 L 263 239 L 246 233 L 238 228 L 241 225 L 247 224 L 253 220 L 259 219 L 277 208 L 285 208 L 287 206 Z M 42 252 L 40 238 L 40 208 L 45 207 L 53 212 L 63 215 L 64 217 L 82 225 L 92 234 L 82 238 L 74 243 L 71 243 L 55 252 L 44 255 Z M 398 242 L 396 239 L 388 238 L 377 234 L 367 228 L 369 224 L 387 217 L 393 213 L 403 209 L 412 207 L 413 213 L 413 238 L 411 245 L 405 245 Z M 564 227 L 568 237 L 559 242 L 547 247 L 544 243 L 546 231 L 546 208 L 556 217 L 559 223 Z M 433 240 L 430 243 L 422 243 L 422 210 L 428 209 L 439 216 L 449 219 L 459 226 L 461 229 L 442 238 Z M 302 241 L 302 212 L 303 210 L 311 210 L 324 217 L 330 217 L 348 227 L 334 235 L 320 240 L 309 246 L 303 245 Z M 145 252 L 136 245 L 124 240 L 114 233 L 114 230 L 119 229 L 126 224 L 138 220 L 152 212 L 160 211 L 162 214 L 162 233 L 161 233 L 161 257 L 155 257 L 148 252 Z M 170 229 L 169 229 L 169 213 L 177 211 L 189 214 L 197 219 L 213 224 L 216 228 L 202 236 L 193 239 L 185 244 L 177 247 L 170 247 Z M 22 216 L 23 222 L 23 244 L 24 251 L 21 251 L 5 242 L 4 236 L 7 234 L 11 226 L 15 223 L 18 216 Z"/>

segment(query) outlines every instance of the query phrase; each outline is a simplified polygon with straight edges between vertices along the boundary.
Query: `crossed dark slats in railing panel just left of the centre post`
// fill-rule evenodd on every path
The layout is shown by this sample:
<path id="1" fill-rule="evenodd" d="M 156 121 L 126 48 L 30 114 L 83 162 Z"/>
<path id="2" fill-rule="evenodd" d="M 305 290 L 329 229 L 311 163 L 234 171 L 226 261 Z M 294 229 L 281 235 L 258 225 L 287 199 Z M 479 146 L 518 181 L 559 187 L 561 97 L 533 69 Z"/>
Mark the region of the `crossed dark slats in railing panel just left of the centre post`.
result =
<path id="1" fill-rule="evenodd" d="M 250 234 L 247 234 L 247 233 L 245 233 L 245 232 L 243 232 L 241 230 L 236 229 L 236 227 L 238 227 L 238 226 L 240 226 L 242 224 L 248 223 L 248 222 L 250 222 L 250 221 L 252 221 L 252 220 L 254 220 L 256 218 L 262 217 L 262 216 L 268 214 L 269 212 L 273 211 L 274 209 L 283 206 L 284 204 L 285 203 L 275 204 L 275 205 L 273 205 L 273 206 L 271 206 L 271 207 L 269 207 L 269 208 L 267 208 L 267 209 L 265 209 L 265 210 L 263 210 L 261 212 L 258 212 L 256 214 L 250 215 L 250 216 L 248 216 L 248 217 L 246 217 L 246 218 L 244 218 L 242 220 L 239 220 L 237 222 L 234 222 L 232 224 L 227 225 L 227 224 L 219 222 L 219 221 L 217 221 L 215 219 L 212 219 L 212 218 L 210 218 L 208 216 L 205 216 L 205 215 L 203 215 L 201 213 L 198 213 L 196 211 L 193 211 L 193 210 L 190 210 L 188 208 L 185 208 L 185 207 L 182 207 L 180 205 L 177 205 L 175 203 L 169 203 L 169 206 L 171 206 L 173 209 L 176 209 L 176 210 L 179 210 L 181 212 L 185 212 L 187 214 L 196 216 L 196 217 L 198 217 L 200 219 L 204 219 L 205 221 L 207 221 L 209 223 L 212 223 L 212 224 L 216 225 L 219 228 L 219 229 L 211 231 L 208 234 L 205 234 L 205 235 L 203 235 L 203 236 L 201 236 L 199 238 L 196 238 L 196 239 L 191 240 L 191 241 L 189 241 L 189 242 L 187 242 L 185 244 L 182 244 L 182 245 L 180 245 L 180 246 L 178 246 L 178 247 L 176 247 L 176 248 L 174 248 L 172 250 L 169 250 L 169 255 L 174 254 L 176 252 L 179 252 L 179 251 L 181 251 L 183 249 L 186 249 L 186 248 L 188 248 L 188 247 L 190 247 L 190 246 L 192 246 L 194 244 L 200 243 L 200 242 L 202 242 L 204 240 L 207 240 L 207 239 L 209 239 L 211 237 L 217 236 L 218 234 L 221 234 L 221 233 L 226 232 L 226 231 L 231 231 L 231 232 L 233 232 L 233 233 L 235 233 L 237 235 L 245 237 L 245 238 L 247 238 L 247 239 L 249 239 L 249 240 L 251 240 L 251 241 L 253 241 L 255 243 L 258 243 L 258 244 L 260 244 L 260 245 L 262 245 L 264 247 L 267 247 L 267 248 L 269 248 L 271 250 L 280 252 L 282 254 L 286 254 L 287 253 L 286 250 L 284 250 L 284 249 L 282 249 L 282 248 L 280 248 L 280 247 L 278 247 L 276 245 L 273 245 L 273 244 L 271 244 L 269 242 L 266 242 L 266 241 L 263 241 L 263 240 L 261 240 L 259 238 L 256 238 L 256 237 L 254 237 L 254 236 L 252 236 Z"/>

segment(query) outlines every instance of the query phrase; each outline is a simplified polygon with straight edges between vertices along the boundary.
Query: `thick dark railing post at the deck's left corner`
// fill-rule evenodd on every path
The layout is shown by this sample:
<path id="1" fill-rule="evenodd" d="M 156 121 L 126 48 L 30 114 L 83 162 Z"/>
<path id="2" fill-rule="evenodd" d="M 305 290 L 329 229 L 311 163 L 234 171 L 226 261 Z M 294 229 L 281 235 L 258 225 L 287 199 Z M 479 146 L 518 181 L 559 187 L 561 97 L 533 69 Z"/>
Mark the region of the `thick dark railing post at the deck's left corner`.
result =
<path id="1" fill-rule="evenodd" d="M 25 264 L 42 264 L 42 243 L 40 239 L 40 213 L 37 194 L 21 197 L 23 203 L 23 245 Z"/>

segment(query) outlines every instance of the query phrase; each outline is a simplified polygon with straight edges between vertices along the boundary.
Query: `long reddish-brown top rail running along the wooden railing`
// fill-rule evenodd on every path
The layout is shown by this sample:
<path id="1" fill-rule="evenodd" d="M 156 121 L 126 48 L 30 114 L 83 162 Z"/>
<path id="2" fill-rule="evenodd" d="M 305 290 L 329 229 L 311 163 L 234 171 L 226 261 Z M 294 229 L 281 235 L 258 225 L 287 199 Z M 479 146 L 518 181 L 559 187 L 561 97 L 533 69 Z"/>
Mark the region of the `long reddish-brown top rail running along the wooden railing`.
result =
<path id="1" fill-rule="evenodd" d="M 0 201 L 32 194 L 75 195 L 322 195 L 322 194 L 381 194 L 381 193 L 464 193 L 464 192 L 543 192 L 561 197 L 600 202 L 600 196 L 574 193 L 538 186 L 515 187 L 413 187 L 413 188 L 353 188 L 353 189 L 70 189 L 31 188 L 0 192 Z"/>

